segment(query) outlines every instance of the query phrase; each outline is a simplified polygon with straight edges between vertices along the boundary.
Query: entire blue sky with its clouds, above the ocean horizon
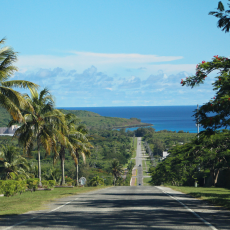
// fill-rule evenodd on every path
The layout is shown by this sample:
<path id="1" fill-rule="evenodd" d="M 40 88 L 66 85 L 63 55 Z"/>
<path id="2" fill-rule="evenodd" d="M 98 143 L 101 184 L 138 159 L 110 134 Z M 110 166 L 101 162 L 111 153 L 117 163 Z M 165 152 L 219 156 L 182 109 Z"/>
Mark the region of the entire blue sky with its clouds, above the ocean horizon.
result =
<path id="1" fill-rule="evenodd" d="M 194 89 L 180 80 L 203 60 L 229 56 L 230 34 L 208 15 L 217 4 L 1 1 L 0 37 L 19 52 L 14 79 L 48 87 L 58 107 L 203 104 L 214 75 Z"/>

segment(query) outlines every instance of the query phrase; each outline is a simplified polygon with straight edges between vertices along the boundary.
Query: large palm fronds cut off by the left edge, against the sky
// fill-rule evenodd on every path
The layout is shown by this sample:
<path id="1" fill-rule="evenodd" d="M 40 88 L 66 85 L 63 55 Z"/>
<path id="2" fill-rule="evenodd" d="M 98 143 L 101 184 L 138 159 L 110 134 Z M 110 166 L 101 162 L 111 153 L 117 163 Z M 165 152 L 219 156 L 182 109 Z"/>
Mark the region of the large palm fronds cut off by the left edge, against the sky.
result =
<path id="1" fill-rule="evenodd" d="M 0 40 L 0 105 L 14 120 L 22 121 L 23 117 L 19 108 L 28 106 L 28 102 L 12 87 L 35 89 L 38 85 L 29 81 L 8 80 L 17 71 L 17 68 L 12 65 L 17 60 L 17 53 L 11 47 L 2 47 L 4 42 L 5 39 Z"/>

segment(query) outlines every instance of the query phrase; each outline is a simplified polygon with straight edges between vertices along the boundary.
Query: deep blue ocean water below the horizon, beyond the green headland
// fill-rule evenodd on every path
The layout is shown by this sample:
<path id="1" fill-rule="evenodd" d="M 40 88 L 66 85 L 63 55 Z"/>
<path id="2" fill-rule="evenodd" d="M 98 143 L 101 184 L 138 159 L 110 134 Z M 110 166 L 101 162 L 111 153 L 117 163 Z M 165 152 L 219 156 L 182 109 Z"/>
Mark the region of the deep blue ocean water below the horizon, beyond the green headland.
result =
<path id="1" fill-rule="evenodd" d="M 107 117 L 136 117 L 144 123 L 153 124 L 156 131 L 171 130 L 196 133 L 194 111 L 192 106 L 120 106 L 120 107 L 58 107 L 66 110 L 86 110 Z M 136 128 L 130 128 L 134 130 Z"/>

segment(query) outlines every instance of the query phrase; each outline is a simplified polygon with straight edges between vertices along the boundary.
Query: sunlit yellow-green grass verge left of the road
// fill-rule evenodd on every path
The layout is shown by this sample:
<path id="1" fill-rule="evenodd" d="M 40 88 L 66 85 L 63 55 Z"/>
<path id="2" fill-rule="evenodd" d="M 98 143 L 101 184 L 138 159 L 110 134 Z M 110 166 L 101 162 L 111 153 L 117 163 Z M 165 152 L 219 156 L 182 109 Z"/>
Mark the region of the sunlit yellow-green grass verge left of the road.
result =
<path id="1" fill-rule="evenodd" d="M 45 204 L 54 199 L 90 192 L 99 188 L 105 187 L 54 188 L 51 191 L 27 191 L 21 195 L 0 197 L 0 216 L 44 209 Z"/>

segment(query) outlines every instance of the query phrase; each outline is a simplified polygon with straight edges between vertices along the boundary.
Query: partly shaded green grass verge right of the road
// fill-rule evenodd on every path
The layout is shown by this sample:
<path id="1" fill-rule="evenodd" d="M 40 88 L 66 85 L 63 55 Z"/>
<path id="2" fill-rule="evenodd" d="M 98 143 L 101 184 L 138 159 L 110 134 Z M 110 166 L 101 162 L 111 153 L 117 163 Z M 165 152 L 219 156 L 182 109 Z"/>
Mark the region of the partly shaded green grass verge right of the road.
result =
<path id="1" fill-rule="evenodd" d="M 177 187 L 167 186 L 176 191 L 189 194 L 195 198 L 206 200 L 214 205 L 223 206 L 230 209 L 230 189 L 226 188 L 206 188 L 206 187 Z"/>

